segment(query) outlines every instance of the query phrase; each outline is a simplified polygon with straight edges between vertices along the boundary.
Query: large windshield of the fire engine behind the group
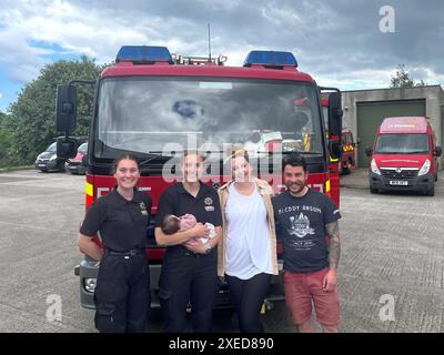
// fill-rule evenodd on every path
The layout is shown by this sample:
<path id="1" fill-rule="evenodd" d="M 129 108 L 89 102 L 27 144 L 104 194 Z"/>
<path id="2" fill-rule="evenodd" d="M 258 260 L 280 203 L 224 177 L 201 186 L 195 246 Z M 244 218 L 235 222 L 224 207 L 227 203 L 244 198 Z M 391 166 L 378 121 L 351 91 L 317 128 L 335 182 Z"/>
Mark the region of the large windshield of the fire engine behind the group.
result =
<path id="1" fill-rule="evenodd" d="M 205 151 L 323 154 L 315 88 L 310 83 L 221 78 L 108 78 L 101 83 L 94 155 Z"/>

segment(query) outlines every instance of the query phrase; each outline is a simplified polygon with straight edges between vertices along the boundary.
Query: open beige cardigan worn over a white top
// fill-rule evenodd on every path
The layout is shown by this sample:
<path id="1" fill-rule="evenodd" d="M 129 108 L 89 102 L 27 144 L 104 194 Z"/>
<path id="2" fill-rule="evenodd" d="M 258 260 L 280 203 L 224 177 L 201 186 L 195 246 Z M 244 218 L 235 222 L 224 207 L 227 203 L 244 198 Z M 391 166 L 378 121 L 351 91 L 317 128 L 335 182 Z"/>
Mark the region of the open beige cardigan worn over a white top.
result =
<path id="1" fill-rule="evenodd" d="M 225 219 L 225 205 L 229 199 L 229 186 L 233 181 L 228 182 L 223 186 L 221 186 L 218 191 L 219 200 L 221 203 L 221 211 L 222 211 L 222 229 L 223 235 L 222 239 L 219 241 L 218 245 L 218 275 L 224 276 L 225 274 L 225 253 L 226 253 L 226 219 Z M 276 253 L 276 231 L 274 227 L 274 212 L 273 205 L 271 203 L 271 196 L 273 195 L 273 190 L 269 185 L 269 183 L 264 180 L 260 180 L 254 178 L 254 182 L 256 183 L 259 193 L 261 194 L 265 207 L 266 207 L 266 219 L 269 222 L 269 231 L 270 231 L 270 247 L 271 247 L 271 255 L 272 255 L 272 264 L 273 264 L 273 274 L 278 275 L 278 253 Z"/>

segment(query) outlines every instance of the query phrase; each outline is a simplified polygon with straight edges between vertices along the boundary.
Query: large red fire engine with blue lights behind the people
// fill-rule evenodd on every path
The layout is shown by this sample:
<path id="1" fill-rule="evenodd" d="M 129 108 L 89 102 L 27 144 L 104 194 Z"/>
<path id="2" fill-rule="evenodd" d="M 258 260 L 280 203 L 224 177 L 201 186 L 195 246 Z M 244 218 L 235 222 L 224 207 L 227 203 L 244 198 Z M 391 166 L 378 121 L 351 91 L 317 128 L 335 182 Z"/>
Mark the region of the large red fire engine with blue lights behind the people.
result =
<path id="1" fill-rule="evenodd" d="M 215 189 L 228 181 L 225 152 L 242 145 L 254 158 L 258 175 L 274 191 L 283 190 L 282 156 L 300 151 L 307 161 L 309 184 L 331 193 L 329 155 L 340 156 L 340 142 L 326 140 L 320 94 L 322 88 L 297 70 L 289 52 L 252 51 L 243 67 L 223 65 L 223 57 L 171 55 L 164 47 L 122 47 L 115 65 L 92 82 L 71 81 L 58 88 L 57 128 L 65 136 L 58 141 L 58 154 L 75 155 L 77 85 L 95 89 L 89 132 L 87 209 L 114 186 L 110 173 L 113 159 L 124 152 L 139 156 L 141 191 L 153 199 L 155 214 L 162 191 L 180 179 L 176 165 L 184 149 L 206 153 L 205 183 Z M 329 132 L 341 134 L 341 94 L 330 93 Z M 339 202 L 339 201 L 337 201 Z M 153 225 L 148 229 L 152 306 L 164 248 L 157 245 Z M 278 231 L 279 234 L 279 231 Z M 94 241 L 100 245 L 100 239 Z M 278 243 L 281 257 L 282 243 Z M 98 268 L 88 256 L 75 268 L 80 276 L 80 300 L 93 307 Z M 281 264 L 282 266 L 282 261 Z M 282 300 L 281 277 L 270 287 L 268 301 Z M 226 285 L 220 284 L 218 307 L 229 305 Z"/>

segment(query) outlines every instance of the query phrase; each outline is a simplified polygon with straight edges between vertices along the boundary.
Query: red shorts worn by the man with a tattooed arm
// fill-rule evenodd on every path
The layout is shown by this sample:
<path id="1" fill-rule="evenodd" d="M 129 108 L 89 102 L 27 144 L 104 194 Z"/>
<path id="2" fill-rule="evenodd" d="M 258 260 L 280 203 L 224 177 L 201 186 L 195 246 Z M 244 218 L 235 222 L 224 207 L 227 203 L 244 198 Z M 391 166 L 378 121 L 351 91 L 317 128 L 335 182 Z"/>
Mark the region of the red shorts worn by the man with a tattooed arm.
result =
<path id="1" fill-rule="evenodd" d="M 329 267 L 313 273 L 284 271 L 285 303 L 294 324 L 305 323 L 312 316 L 312 302 L 316 320 L 322 325 L 340 325 L 341 306 L 337 285 L 331 292 L 322 290 Z"/>

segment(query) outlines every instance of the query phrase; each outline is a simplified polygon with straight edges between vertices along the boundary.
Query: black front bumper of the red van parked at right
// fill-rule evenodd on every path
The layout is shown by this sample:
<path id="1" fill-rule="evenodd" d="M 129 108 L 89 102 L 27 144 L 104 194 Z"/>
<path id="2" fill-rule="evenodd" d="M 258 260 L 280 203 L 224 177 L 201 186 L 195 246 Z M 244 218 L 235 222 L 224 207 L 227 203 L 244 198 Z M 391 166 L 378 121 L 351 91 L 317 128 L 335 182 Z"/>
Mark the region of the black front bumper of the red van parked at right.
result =
<path id="1" fill-rule="evenodd" d="M 374 172 L 369 172 L 369 184 L 371 190 L 380 191 L 411 191 L 426 193 L 434 184 L 433 174 L 424 174 L 408 179 L 385 178 Z"/>

